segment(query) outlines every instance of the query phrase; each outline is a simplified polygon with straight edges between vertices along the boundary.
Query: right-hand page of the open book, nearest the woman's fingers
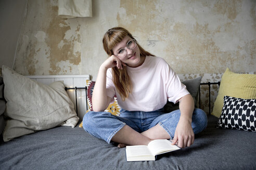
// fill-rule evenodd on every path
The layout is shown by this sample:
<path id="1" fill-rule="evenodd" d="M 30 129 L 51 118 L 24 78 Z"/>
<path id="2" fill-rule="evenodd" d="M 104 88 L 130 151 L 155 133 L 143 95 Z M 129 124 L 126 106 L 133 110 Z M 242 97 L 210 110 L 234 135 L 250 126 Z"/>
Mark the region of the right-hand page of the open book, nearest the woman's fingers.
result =
<path id="1" fill-rule="evenodd" d="M 154 155 L 180 149 L 176 145 L 172 145 L 171 141 L 167 139 L 152 140 L 148 144 L 148 147 Z"/>

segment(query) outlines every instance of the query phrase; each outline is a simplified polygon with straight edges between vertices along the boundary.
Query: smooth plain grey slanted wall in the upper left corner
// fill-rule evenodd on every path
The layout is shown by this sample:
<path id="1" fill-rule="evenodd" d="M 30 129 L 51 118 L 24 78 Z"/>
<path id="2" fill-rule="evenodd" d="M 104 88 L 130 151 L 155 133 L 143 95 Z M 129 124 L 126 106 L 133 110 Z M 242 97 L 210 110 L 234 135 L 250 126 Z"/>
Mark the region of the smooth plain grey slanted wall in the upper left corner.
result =
<path id="1" fill-rule="evenodd" d="M 10 68 L 14 65 L 26 6 L 27 0 L 0 0 L 0 69 L 2 65 Z"/>

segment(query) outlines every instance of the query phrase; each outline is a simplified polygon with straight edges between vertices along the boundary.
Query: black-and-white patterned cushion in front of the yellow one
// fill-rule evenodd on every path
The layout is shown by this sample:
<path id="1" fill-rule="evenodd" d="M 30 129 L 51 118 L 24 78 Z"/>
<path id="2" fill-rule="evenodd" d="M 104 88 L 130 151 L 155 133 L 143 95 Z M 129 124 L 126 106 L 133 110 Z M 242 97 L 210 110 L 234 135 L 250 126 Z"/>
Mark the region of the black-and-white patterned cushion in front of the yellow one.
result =
<path id="1" fill-rule="evenodd" d="M 256 132 L 256 99 L 224 96 L 217 127 Z"/>

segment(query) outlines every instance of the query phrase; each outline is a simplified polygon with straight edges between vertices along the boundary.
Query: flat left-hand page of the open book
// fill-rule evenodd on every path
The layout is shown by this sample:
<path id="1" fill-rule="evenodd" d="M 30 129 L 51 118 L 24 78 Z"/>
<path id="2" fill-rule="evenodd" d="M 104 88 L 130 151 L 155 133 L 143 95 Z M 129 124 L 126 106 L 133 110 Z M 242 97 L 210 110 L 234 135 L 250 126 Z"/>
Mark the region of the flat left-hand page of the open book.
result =
<path id="1" fill-rule="evenodd" d="M 132 157 L 152 155 L 152 153 L 148 149 L 148 146 L 146 145 L 126 146 L 126 154 Z"/>

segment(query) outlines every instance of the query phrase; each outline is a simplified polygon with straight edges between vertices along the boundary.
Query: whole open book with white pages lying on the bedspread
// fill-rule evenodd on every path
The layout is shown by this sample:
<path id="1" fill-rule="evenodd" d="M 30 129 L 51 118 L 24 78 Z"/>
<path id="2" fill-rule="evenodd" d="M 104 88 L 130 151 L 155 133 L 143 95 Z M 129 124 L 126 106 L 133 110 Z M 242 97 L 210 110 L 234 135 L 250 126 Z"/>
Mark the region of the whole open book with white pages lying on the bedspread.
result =
<path id="1" fill-rule="evenodd" d="M 167 139 L 152 140 L 148 145 L 126 146 L 127 161 L 155 161 L 156 155 L 181 149 Z"/>

